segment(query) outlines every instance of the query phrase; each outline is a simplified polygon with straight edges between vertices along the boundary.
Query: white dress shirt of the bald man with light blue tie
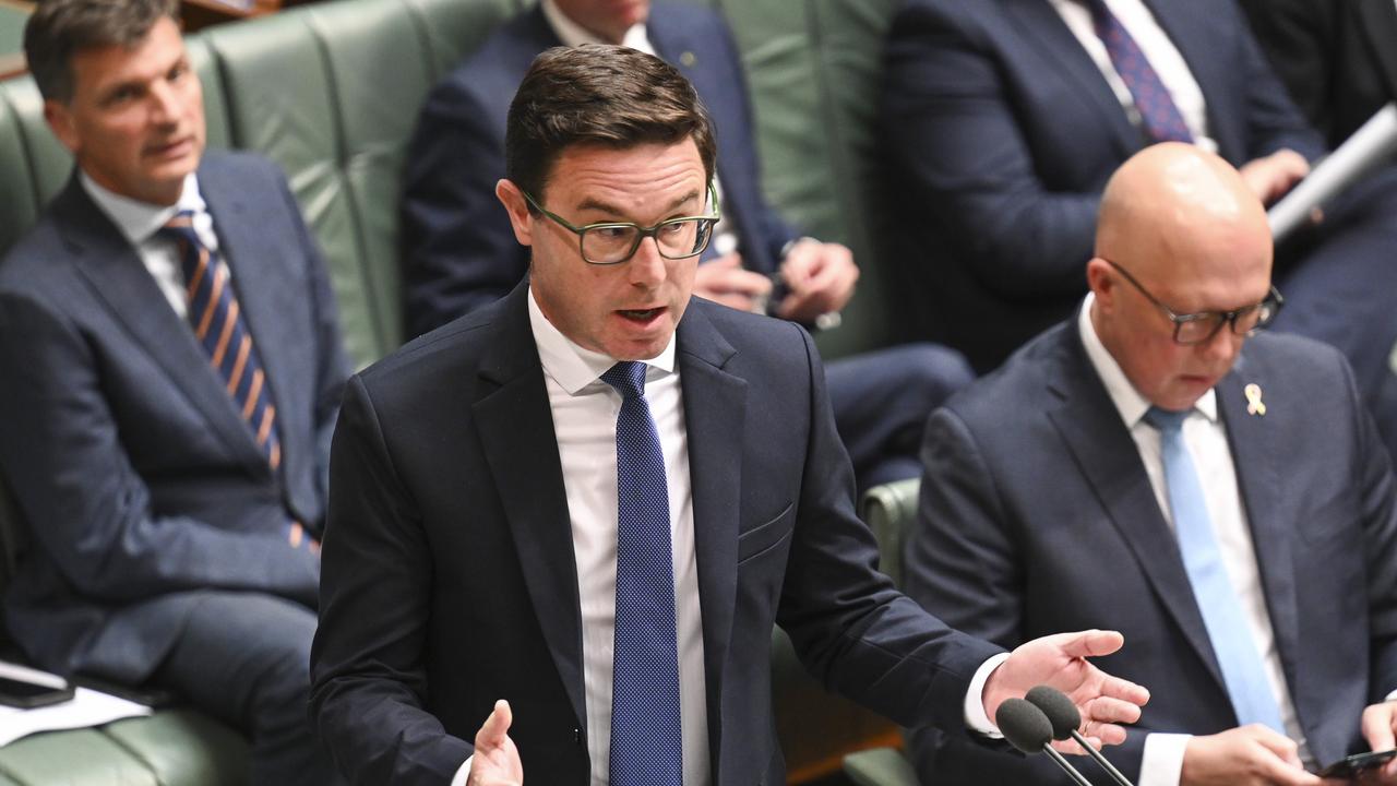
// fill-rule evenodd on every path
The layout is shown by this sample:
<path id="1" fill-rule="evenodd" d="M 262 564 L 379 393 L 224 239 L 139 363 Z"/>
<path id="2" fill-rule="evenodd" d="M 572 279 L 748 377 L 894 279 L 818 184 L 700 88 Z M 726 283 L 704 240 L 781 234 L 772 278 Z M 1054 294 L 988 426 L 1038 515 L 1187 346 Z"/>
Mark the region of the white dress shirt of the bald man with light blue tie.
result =
<path id="1" fill-rule="evenodd" d="M 1150 401 L 1130 385 L 1125 372 L 1120 371 L 1120 365 L 1097 336 L 1090 316 L 1094 302 L 1095 296 L 1087 292 L 1087 299 L 1077 317 L 1081 343 L 1085 345 L 1087 357 L 1105 385 L 1111 401 L 1116 406 L 1120 420 L 1130 429 L 1146 474 L 1150 477 L 1150 485 L 1154 488 L 1155 501 L 1158 501 L 1164 520 L 1172 530 L 1173 520 L 1169 512 L 1168 487 L 1164 481 L 1160 432 L 1144 422 Z M 1270 611 L 1266 608 L 1266 594 L 1256 562 L 1256 550 L 1252 544 L 1252 530 L 1248 526 L 1246 508 L 1242 505 L 1242 495 L 1236 485 L 1232 449 L 1228 445 L 1222 421 L 1218 420 L 1217 394 L 1213 390 L 1199 399 L 1183 421 L 1183 442 L 1199 473 L 1199 483 L 1203 487 L 1204 502 L 1213 523 L 1213 534 L 1222 552 L 1228 580 L 1242 603 L 1248 631 L 1261 655 L 1266 681 L 1271 685 L 1271 694 L 1275 695 L 1277 705 L 1281 708 L 1285 734 L 1299 744 L 1301 759 L 1313 764 L 1309 748 L 1305 745 L 1299 719 L 1295 715 L 1295 702 L 1291 701 L 1289 687 L 1285 684 L 1281 655 L 1275 649 L 1275 632 L 1271 628 Z M 1176 786 L 1189 737 L 1189 734 L 1158 733 L 1147 736 L 1140 762 L 1139 786 Z"/>

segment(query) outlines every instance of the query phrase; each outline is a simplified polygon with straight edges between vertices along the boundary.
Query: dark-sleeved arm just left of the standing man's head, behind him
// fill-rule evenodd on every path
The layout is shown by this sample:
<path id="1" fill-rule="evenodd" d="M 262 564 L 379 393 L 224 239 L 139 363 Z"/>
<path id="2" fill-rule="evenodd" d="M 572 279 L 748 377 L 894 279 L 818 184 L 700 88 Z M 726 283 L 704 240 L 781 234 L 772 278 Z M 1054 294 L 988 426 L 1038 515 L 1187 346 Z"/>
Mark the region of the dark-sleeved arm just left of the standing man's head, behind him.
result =
<path id="1" fill-rule="evenodd" d="M 504 140 L 460 80 L 432 91 L 404 166 L 405 320 L 418 336 L 504 296 L 524 278 L 528 249 L 495 196 Z"/>

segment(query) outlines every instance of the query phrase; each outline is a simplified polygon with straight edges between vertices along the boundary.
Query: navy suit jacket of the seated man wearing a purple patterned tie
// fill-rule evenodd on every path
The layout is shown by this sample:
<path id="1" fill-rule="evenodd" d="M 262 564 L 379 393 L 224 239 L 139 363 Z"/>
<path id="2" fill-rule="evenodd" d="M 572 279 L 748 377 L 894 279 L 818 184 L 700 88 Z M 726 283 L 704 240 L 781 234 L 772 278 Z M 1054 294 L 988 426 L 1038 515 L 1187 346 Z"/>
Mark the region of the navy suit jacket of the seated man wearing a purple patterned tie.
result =
<path id="1" fill-rule="evenodd" d="M 1146 0 L 1241 165 L 1322 140 L 1231 0 Z M 929 336 L 988 371 L 1087 291 L 1097 207 L 1146 145 L 1048 0 L 909 0 L 893 22 L 884 133 L 898 259 Z"/>

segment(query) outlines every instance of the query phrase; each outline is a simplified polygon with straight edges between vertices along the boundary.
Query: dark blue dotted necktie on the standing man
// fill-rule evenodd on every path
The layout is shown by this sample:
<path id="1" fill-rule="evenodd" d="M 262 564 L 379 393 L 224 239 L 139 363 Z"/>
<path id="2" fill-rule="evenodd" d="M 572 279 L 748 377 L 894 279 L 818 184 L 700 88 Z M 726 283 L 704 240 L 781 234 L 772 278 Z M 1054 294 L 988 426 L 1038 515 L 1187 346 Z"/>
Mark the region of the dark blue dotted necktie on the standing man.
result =
<path id="1" fill-rule="evenodd" d="M 682 786 L 679 645 L 665 457 L 645 401 L 645 364 L 602 375 L 622 394 L 616 417 L 616 656 L 612 786 Z"/>

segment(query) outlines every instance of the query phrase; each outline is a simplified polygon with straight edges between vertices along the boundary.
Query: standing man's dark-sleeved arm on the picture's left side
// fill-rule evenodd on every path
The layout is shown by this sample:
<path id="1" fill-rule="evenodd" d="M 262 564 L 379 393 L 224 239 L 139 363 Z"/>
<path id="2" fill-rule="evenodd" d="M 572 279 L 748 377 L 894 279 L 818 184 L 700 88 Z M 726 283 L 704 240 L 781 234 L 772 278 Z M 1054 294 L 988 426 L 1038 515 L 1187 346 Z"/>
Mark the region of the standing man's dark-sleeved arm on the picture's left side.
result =
<path id="1" fill-rule="evenodd" d="M 474 748 L 423 708 L 430 544 L 358 376 L 331 453 L 312 723 L 356 783 L 446 786 Z"/>

